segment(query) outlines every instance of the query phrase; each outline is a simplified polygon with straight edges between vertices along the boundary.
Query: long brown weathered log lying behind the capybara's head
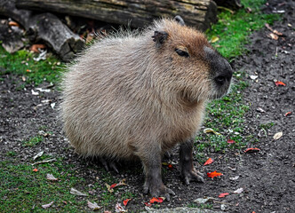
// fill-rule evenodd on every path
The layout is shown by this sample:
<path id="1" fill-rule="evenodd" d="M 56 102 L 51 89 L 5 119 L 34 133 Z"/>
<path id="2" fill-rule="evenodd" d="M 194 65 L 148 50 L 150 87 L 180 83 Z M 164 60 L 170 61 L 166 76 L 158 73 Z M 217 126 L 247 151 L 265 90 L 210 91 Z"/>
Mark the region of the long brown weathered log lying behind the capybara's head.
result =
<path id="1" fill-rule="evenodd" d="M 142 28 L 159 17 L 180 15 L 187 25 L 200 30 L 217 20 L 212 0 L 16 0 L 20 9 L 60 12 L 72 16 Z"/>

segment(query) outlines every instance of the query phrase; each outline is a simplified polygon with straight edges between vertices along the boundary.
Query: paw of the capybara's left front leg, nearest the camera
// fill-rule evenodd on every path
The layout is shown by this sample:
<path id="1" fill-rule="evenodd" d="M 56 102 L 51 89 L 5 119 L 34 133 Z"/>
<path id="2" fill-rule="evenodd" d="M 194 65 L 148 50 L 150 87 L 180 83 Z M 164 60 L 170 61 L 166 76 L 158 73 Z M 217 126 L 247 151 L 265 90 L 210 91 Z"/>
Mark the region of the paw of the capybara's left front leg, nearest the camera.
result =
<path id="1" fill-rule="evenodd" d="M 165 185 L 150 185 L 146 182 L 143 186 L 143 193 L 150 193 L 153 197 L 164 197 L 167 201 L 170 201 L 170 195 L 175 195 L 175 193 L 167 188 Z"/>

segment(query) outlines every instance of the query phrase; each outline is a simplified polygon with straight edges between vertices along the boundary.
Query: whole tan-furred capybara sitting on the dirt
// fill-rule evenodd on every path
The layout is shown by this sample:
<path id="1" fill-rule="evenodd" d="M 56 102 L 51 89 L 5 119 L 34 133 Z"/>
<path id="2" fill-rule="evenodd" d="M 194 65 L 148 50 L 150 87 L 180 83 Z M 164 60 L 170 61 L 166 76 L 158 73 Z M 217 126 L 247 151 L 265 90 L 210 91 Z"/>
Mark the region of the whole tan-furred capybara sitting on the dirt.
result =
<path id="1" fill-rule="evenodd" d="M 193 143 L 206 102 L 230 87 L 232 68 L 203 33 L 179 17 L 155 20 L 140 33 L 94 43 L 68 67 L 61 104 L 65 133 L 78 154 L 140 159 L 144 193 L 164 196 L 161 158 L 177 144 L 186 184 L 203 181 Z"/>

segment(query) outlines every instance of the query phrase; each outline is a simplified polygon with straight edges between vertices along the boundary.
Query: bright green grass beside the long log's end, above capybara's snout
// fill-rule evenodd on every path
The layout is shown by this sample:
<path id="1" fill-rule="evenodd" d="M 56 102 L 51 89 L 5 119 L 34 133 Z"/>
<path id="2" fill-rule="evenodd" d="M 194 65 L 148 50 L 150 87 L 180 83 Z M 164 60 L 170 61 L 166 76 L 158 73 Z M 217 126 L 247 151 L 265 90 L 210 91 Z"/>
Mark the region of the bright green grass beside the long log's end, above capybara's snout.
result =
<path id="1" fill-rule="evenodd" d="M 221 10 L 218 15 L 218 23 L 207 30 L 206 34 L 211 40 L 218 36 L 219 41 L 212 43 L 213 46 L 227 59 L 243 55 L 246 49 L 244 44 L 249 42 L 248 36 L 253 30 L 263 28 L 266 23 L 271 24 L 279 19 L 279 15 L 263 14 L 259 7 L 265 0 L 242 0 L 244 8 L 250 7 L 252 12 L 244 9 L 232 14 L 227 10 Z"/>

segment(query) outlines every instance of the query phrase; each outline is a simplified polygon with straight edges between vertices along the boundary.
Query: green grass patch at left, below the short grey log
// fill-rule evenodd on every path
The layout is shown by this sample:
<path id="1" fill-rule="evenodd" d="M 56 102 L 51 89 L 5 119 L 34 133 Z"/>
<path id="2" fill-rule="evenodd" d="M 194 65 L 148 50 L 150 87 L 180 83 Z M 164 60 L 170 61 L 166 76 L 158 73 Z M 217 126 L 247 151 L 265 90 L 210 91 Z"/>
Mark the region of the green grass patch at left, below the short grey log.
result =
<path id="1" fill-rule="evenodd" d="M 58 83 L 64 64 L 53 56 L 46 60 L 35 61 L 36 53 L 20 50 L 13 54 L 8 53 L 0 46 L 0 74 L 15 74 L 20 77 L 19 90 L 27 83 L 35 86 L 45 82 Z M 25 80 L 25 81 L 24 81 Z"/>

